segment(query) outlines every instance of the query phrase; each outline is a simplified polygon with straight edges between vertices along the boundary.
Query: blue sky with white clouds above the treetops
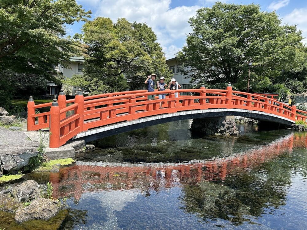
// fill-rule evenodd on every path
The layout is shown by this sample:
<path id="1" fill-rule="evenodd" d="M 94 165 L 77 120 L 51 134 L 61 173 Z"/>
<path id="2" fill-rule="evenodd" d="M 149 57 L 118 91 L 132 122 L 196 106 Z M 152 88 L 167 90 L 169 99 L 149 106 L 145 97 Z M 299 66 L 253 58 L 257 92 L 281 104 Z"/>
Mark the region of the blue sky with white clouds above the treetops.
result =
<path id="1" fill-rule="evenodd" d="M 95 17 L 110 17 L 116 21 L 125 17 L 129 21 L 147 23 L 156 33 L 167 59 L 175 56 L 185 44 L 186 35 L 191 31 L 188 19 L 197 9 L 210 7 L 214 0 L 77 0 L 85 10 Z M 307 43 L 307 0 L 258 0 L 230 1 L 227 3 L 260 4 L 263 11 L 273 11 L 280 15 L 283 23 L 296 24 L 301 29 Z M 69 35 L 80 33 L 84 22 L 70 25 Z"/>

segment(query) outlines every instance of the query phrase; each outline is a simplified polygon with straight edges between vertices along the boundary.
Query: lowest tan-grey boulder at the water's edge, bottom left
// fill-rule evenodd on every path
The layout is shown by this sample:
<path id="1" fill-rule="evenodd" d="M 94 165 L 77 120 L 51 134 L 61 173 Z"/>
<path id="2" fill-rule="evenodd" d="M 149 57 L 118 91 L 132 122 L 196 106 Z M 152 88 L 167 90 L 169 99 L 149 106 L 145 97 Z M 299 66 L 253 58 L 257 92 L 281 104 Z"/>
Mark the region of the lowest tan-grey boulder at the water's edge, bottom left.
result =
<path id="1" fill-rule="evenodd" d="M 18 223 L 33 219 L 48 220 L 56 216 L 62 207 L 58 201 L 38 198 L 26 207 L 20 206 L 16 211 L 15 220 Z"/>

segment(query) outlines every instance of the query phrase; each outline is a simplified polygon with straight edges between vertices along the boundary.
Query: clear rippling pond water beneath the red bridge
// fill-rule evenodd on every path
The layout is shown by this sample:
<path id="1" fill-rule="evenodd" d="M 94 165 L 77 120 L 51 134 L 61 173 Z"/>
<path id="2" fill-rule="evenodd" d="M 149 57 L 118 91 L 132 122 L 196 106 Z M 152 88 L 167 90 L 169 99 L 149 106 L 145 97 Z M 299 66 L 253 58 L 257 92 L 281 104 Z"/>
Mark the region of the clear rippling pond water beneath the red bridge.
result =
<path id="1" fill-rule="evenodd" d="M 59 229 L 306 229 L 305 133 L 200 137 L 191 122 L 94 141 L 74 165 L 25 179 L 68 197 Z"/>

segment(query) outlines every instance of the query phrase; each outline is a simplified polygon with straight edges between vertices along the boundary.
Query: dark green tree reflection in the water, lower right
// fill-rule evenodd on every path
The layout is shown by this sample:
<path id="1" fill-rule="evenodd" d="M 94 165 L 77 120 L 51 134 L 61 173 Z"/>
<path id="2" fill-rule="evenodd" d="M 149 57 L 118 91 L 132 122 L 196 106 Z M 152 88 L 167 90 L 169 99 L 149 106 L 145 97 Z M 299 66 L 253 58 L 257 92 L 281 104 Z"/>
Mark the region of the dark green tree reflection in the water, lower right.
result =
<path id="1" fill-rule="evenodd" d="M 187 212 L 205 221 L 220 218 L 239 225 L 250 221 L 247 215 L 260 217 L 265 208 L 286 204 L 290 172 L 289 162 L 279 158 L 251 171 L 233 171 L 223 182 L 183 184 L 180 198 Z"/>

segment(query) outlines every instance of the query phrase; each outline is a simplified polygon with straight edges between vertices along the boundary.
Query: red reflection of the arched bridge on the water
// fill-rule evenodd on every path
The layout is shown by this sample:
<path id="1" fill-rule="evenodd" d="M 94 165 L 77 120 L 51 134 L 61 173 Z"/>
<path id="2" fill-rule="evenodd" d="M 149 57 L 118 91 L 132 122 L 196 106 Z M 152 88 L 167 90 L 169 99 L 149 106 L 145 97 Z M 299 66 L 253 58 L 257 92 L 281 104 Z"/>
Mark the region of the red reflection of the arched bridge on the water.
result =
<path id="1" fill-rule="evenodd" d="M 102 163 L 76 162 L 59 173 L 50 174 L 54 197 L 73 196 L 97 190 L 138 188 L 160 190 L 181 184 L 202 181 L 223 182 L 234 171 L 251 169 L 282 154 L 291 154 L 293 147 L 307 148 L 307 138 L 299 133 L 278 139 L 262 148 L 245 151 L 235 157 L 188 163 Z"/>

